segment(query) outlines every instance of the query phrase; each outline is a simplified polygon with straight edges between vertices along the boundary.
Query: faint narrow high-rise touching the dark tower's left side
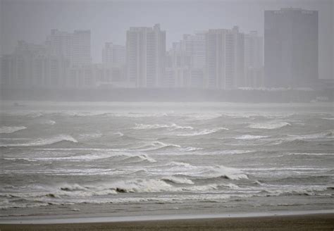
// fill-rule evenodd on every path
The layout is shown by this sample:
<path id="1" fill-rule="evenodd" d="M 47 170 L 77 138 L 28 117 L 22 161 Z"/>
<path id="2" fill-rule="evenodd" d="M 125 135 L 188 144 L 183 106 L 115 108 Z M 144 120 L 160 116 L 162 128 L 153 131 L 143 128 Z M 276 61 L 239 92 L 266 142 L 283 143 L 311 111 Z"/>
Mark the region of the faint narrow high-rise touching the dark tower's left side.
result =
<path id="1" fill-rule="evenodd" d="M 256 31 L 245 34 L 245 87 L 263 87 L 263 38 Z"/>

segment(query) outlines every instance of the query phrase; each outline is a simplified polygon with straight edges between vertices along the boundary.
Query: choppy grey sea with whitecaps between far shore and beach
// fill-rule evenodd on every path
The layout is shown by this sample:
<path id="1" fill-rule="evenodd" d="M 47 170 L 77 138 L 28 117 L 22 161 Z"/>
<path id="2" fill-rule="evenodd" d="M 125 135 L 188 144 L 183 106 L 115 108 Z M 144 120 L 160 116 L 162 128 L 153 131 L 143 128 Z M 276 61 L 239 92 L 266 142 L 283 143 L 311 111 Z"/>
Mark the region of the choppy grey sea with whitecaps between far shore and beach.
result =
<path id="1" fill-rule="evenodd" d="M 25 104 L 1 105 L 2 216 L 333 208 L 331 104 Z"/>

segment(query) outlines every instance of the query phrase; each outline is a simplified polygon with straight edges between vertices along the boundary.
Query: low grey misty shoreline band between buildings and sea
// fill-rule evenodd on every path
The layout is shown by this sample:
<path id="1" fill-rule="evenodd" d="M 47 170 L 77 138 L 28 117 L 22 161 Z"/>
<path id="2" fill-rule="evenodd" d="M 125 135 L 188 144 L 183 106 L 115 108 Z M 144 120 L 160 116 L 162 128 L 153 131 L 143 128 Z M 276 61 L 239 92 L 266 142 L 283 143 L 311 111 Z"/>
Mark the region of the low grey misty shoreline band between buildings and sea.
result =
<path id="1" fill-rule="evenodd" d="M 1 100 L 34 101 L 166 101 L 166 102 L 238 102 L 309 103 L 333 102 L 333 92 L 303 89 L 8 89 L 0 91 Z"/>

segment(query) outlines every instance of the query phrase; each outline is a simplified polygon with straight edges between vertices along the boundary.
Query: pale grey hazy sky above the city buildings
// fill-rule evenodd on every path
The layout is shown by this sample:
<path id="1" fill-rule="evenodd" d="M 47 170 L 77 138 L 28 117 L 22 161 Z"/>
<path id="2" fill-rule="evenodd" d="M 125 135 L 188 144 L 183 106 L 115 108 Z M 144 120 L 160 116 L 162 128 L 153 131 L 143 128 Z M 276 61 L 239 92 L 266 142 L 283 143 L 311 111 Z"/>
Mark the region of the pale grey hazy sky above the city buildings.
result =
<path id="1" fill-rule="evenodd" d="M 79 1 L 0 0 L 2 54 L 13 51 L 17 40 L 41 44 L 51 29 L 91 30 L 92 58 L 101 61 L 105 42 L 125 44 L 130 26 L 153 26 L 166 30 L 166 46 L 183 34 L 209 28 L 257 30 L 263 35 L 264 10 L 299 7 L 319 11 L 319 76 L 333 77 L 333 0 L 290 1 Z"/>

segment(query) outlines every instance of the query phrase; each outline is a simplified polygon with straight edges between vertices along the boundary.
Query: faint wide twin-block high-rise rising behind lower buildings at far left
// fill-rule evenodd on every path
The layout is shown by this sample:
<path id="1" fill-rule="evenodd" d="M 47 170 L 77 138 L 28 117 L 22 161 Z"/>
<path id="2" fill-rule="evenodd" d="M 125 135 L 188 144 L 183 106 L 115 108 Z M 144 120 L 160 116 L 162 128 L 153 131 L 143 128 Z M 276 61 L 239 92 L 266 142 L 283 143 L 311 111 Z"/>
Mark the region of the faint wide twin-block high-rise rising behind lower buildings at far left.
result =
<path id="1" fill-rule="evenodd" d="M 46 45 L 50 55 L 66 58 L 70 61 L 70 65 L 92 63 L 90 30 L 74 32 L 51 30 Z"/>

